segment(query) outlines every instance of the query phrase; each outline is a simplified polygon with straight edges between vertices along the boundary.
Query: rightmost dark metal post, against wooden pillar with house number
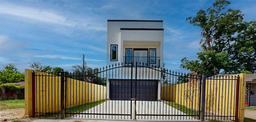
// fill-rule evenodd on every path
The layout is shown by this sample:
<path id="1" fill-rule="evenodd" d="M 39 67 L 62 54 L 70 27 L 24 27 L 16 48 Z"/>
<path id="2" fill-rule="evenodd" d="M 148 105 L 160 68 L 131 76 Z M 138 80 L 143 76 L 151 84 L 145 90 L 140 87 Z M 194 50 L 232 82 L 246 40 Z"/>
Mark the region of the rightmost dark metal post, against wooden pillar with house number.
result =
<path id="1" fill-rule="evenodd" d="M 236 80 L 236 108 L 235 108 L 235 122 L 238 122 L 238 107 L 239 107 L 239 88 L 240 88 L 240 76 L 238 74 Z"/>

